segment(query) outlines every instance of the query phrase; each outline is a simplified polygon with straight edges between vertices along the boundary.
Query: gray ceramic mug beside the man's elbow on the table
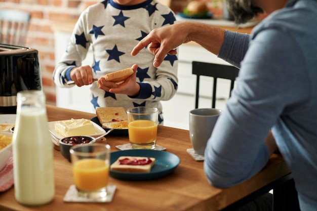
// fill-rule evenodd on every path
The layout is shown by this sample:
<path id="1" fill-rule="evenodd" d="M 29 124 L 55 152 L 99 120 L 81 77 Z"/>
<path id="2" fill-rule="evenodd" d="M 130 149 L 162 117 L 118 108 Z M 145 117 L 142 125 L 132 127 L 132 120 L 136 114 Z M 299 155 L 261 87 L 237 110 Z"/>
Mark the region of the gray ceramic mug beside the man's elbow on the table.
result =
<path id="1" fill-rule="evenodd" d="M 196 108 L 189 111 L 189 135 L 196 154 L 204 155 L 207 141 L 222 110 L 217 108 Z"/>

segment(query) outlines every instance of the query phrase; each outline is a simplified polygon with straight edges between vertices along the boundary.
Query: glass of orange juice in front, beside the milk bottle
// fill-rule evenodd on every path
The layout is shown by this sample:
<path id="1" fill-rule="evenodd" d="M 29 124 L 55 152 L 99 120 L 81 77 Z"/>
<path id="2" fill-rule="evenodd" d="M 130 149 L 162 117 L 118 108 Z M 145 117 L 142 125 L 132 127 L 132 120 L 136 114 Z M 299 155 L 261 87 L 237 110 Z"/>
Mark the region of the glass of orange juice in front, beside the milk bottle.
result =
<path id="1" fill-rule="evenodd" d="M 107 196 L 110 146 L 75 145 L 69 150 L 78 196 L 102 201 Z"/>

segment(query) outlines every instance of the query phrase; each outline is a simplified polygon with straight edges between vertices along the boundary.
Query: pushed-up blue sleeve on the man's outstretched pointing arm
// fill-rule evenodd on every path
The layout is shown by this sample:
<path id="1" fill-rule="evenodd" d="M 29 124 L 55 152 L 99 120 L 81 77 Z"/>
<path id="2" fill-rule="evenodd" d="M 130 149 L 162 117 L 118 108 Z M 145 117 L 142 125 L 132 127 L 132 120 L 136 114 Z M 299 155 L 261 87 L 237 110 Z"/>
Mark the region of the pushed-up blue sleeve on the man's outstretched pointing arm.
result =
<path id="1" fill-rule="evenodd" d="M 233 66 L 240 68 L 240 63 L 249 48 L 249 40 L 249 34 L 226 30 L 224 41 L 219 51 L 218 57 L 227 61 Z"/>

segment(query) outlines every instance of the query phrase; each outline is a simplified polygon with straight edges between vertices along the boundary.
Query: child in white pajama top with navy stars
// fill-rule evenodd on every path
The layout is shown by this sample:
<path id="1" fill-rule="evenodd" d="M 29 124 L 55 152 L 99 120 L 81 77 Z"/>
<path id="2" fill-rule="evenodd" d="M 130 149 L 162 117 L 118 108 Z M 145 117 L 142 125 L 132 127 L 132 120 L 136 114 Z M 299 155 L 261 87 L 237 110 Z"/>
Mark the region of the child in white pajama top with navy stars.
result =
<path id="1" fill-rule="evenodd" d="M 123 3 L 125 2 L 125 3 Z M 132 5 L 133 4 L 133 5 Z M 172 10 L 156 0 L 105 0 L 88 7 L 78 19 L 66 52 L 57 64 L 53 80 L 57 86 L 71 88 L 92 83 L 91 96 L 83 96 L 92 108 L 135 106 L 156 107 L 161 113 L 161 100 L 170 100 L 177 91 L 177 55 L 166 55 L 158 68 L 152 62 L 154 56 L 144 49 L 137 56 L 130 55 L 134 46 L 152 29 L 173 24 Z M 93 64 L 82 66 L 89 47 L 93 51 Z M 99 89 L 97 82 L 87 82 L 87 77 L 100 78 L 107 73 L 137 64 L 137 95 L 115 94 Z M 70 74 L 71 72 L 71 74 Z M 75 77 L 75 79 L 74 79 Z M 86 82 L 76 81 L 80 78 Z M 68 85 L 68 81 L 76 85 Z M 121 85 L 118 85 L 121 86 Z"/>

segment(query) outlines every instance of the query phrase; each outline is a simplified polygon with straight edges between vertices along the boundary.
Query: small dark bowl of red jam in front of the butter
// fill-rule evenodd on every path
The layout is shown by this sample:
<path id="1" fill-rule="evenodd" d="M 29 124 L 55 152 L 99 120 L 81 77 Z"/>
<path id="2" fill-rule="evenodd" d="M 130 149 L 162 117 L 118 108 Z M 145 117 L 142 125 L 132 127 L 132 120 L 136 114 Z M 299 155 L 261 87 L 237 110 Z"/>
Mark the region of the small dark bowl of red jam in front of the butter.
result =
<path id="1" fill-rule="evenodd" d="M 92 144 L 95 142 L 96 139 L 91 136 L 70 136 L 59 140 L 59 148 L 63 157 L 65 157 L 70 162 L 70 147 L 80 144 Z"/>

